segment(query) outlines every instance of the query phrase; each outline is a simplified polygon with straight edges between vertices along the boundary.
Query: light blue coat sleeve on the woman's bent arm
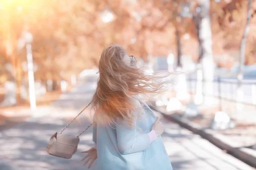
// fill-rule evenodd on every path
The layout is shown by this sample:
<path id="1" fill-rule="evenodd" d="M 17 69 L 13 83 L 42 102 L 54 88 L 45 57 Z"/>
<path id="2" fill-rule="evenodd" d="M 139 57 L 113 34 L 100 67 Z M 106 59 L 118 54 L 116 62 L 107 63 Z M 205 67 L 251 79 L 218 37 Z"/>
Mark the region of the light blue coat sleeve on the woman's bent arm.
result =
<path id="1" fill-rule="evenodd" d="M 117 121 L 116 125 L 117 147 L 122 154 L 129 154 L 147 150 L 150 146 L 150 137 L 147 133 L 140 133 L 136 130 L 136 119 L 133 127 L 123 125 Z"/>

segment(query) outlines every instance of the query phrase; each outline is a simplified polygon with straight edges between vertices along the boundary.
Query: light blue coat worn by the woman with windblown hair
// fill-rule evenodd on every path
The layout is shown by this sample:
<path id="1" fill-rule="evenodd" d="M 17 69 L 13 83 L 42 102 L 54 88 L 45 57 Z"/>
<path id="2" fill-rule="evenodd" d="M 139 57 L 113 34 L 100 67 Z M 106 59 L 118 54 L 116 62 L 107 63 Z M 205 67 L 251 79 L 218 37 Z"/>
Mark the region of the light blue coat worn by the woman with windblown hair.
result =
<path id="1" fill-rule="evenodd" d="M 160 137 L 150 143 L 146 133 L 156 120 L 152 110 L 143 101 L 143 114 L 134 122 L 140 129 L 118 123 L 112 127 L 94 125 L 93 142 L 97 146 L 98 158 L 90 169 L 96 170 L 172 170 L 172 165 L 163 140 Z M 94 168 L 93 168 L 94 167 Z"/>

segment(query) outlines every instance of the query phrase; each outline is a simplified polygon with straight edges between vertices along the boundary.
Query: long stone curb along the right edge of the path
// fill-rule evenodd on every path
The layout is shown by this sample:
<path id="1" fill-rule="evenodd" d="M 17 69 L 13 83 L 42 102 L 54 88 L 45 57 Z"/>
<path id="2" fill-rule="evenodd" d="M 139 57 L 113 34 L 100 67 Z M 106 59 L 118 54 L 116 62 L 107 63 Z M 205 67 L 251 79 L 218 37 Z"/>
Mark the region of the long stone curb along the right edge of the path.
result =
<path id="1" fill-rule="evenodd" d="M 204 129 L 200 125 L 190 122 L 175 114 L 166 114 L 157 108 L 151 107 L 152 110 L 161 113 L 166 119 L 176 122 L 180 126 L 192 131 L 195 134 L 200 135 L 204 139 L 219 147 L 221 150 L 227 151 L 232 156 L 243 161 L 244 163 L 256 168 L 256 151 L 245 148 L 245 147 L 235 147 L 235 142 L 227 139 L 225 136 L 216 133 L 214 130 Z"/>

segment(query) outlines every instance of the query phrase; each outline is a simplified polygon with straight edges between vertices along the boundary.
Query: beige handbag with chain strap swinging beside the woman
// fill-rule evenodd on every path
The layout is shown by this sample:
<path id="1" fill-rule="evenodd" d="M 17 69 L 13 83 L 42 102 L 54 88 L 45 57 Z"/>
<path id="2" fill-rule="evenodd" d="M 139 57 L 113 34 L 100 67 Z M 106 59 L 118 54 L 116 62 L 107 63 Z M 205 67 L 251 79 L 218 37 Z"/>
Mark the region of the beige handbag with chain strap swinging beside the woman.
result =
<path id="1" fill-rule="evenodd" d="M 84 133 L 92 124 L 90 124 L 86 129 L 84 129 L 77 136 L 64 136 L 62 132 L 90 105 L 90 103 L 72 120 L 64 127 L 60 133 L 54 133 L 50 138 L 50 142 L 47 146 L 47 153 L 53 156 L 58 156 L 61 158 L 70 159 L 73 154 L 77 151 L 77 145 L 79 143 L 79 136 Z"/>

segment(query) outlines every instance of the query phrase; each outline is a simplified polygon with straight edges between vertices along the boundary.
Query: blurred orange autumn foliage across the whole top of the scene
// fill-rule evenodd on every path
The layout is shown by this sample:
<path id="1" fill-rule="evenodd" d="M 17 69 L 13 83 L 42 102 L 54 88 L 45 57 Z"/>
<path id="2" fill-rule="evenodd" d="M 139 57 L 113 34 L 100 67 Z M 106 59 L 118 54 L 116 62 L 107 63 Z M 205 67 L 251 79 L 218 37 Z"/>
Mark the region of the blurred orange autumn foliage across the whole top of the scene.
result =
<path id="1" fill-rule="evenodd" d="M 246 0 L 211 0 L 213 54 L 221 61 L 237 60 L 247 14 Z M 35 79 L 65 79 L 86 68 L 97 67 L 100 53 L 107 45 L 118 43 L 129 54 L 147 60 L 177 54 L 175 31 L 179 29 L 184 55 L 198 58 L 198 41 L 192 15 L 193 0 L 4 0 L 0 2 L 0 62 L 13 69 L 0 67 L 0 76 L 16 77 L 26 65 L 25 48 L 18 49 L 23 31 L 33 35 Z M 189 9 L 190 15 L 182 15 Z M 253 12 L 256 2 L 253 3 Z M 108 13 L 111 12 L 111 13 Z M 188 12 L 188 11 L 187 11 Z M 108 16 L 111 21 L 108 20 Z M 246 64 L 256 62 L 254 33 L 256 17 L 252 17 Z M 25 71 L 26 72 L 26 71 Z"/>

